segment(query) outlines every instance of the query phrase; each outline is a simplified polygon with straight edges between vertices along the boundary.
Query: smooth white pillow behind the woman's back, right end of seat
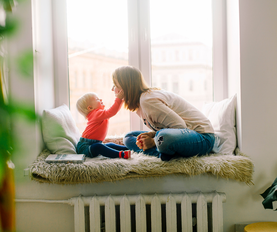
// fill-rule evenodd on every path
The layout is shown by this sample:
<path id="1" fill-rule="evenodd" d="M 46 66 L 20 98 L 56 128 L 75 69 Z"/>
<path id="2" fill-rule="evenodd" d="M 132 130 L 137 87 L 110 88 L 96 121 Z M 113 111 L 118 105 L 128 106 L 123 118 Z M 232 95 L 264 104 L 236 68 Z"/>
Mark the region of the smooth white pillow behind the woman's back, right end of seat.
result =
<path id="1" fill-rule="evenodd" d="M 205 102 L 203 114 L 210 120 L 215 130 L 214 153 L 233 154 L 237 146 L 236 138 L 236 94 L 220 102 Z"/>

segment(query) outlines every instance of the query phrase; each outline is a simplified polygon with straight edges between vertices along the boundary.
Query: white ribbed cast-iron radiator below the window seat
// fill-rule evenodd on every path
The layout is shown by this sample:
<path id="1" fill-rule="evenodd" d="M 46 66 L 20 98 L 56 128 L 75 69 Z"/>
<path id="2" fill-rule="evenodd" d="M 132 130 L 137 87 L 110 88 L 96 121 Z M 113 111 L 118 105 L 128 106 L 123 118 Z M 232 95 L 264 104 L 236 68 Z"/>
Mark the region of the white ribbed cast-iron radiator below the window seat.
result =
<path id="1" fill-rule="evenodd" d="M 166 207 L 166 231 L 177 232 L 176 204 L 181 205 L 182 232 L 192 232 L 192 204 L 196 203 L 197 232 L 208 232 L 207 203 L 212 203 L 212 232 L 223 232 L 222 202 L 225 193 L 139 194 L 72 197 L 68 204 L 74 206 L 75 232 L 100 232 L 101 206 L 105 206 L 105 231 L 116 232 L 116 206 L 120 206 L 120 231 L 131 232 L 131 205 L 135 205 L 136 232 L 146 232 L 146 205 L 151 205 L 151 231 L 161 232 L 161 205 Z M 85 225 L 85 207 L 89 206 L 89 229 Z M 132 219 L 133 220 L 133 219 Z M 118 220 L 117 220 L 118 221 Z M 195 221 L 195 220 L 194 220 Z"/>

